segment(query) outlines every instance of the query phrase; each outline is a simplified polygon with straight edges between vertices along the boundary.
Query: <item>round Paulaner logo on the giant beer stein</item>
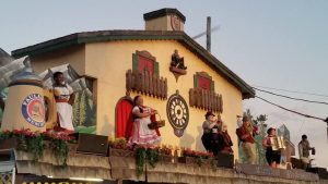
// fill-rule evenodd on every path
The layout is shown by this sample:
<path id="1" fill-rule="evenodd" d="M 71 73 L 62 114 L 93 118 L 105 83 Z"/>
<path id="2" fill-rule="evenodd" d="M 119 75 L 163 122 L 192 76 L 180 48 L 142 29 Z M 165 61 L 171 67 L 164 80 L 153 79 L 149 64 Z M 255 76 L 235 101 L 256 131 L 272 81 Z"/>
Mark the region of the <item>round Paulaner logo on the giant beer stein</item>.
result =
<path id="1" fill-rule="evenodd" d="M 44 98 L 39 94 L 28 95 L 22 103 L 24 119 L 32 125 L 43 127 L 45 125 Z"/>

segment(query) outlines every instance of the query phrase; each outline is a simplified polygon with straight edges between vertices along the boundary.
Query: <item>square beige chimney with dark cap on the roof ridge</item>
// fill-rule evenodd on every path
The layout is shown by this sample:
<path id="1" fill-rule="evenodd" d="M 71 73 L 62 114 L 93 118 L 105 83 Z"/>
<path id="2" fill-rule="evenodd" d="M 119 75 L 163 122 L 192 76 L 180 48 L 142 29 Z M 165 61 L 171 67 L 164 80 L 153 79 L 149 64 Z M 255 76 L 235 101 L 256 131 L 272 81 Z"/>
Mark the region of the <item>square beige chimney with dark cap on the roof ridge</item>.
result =
<path id="1" fill-rule="evenodd" d="M 161 9 L 143 14 L 145 30 L 181 30 L 186 16 L 177 9 Z"/>

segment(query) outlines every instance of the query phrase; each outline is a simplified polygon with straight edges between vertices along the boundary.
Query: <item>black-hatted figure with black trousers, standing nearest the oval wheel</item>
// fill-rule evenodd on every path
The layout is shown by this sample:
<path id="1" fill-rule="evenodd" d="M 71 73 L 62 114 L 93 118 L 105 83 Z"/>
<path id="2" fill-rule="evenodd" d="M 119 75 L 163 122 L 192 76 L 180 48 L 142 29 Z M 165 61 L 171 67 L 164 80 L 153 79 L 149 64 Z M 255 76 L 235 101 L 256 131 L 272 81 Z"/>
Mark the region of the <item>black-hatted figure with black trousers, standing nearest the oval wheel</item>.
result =
<path id="1" fill-rule="evenodd" d="M 208 151 L 213 152 L 214 151 L 213 142 L 212 142 L 213 135 L 218 134 L 218 132 L 220 131 L 220 126 L 212 111 L 208 111 L 204 116 L 206 116 L 206 121 L 202 123 L 203 134 L 201 136 L 201 142 L 203 147 Z"/>

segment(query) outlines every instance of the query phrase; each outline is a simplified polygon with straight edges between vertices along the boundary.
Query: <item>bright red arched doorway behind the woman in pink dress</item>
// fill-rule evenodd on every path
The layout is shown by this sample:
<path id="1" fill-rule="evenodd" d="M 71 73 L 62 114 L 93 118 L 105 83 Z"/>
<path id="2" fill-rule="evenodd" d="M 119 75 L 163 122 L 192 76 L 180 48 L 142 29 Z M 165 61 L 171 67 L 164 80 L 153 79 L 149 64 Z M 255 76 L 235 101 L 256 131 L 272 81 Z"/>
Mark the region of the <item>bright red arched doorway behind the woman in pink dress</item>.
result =
<path id="1" fill-rule="evenodd" d="M 133 118 L 132 118 L 133 102 L 129 97 L 124 97 L 118 100 L 116 105 L 116 137 L 126 137 L 131 135 Z"/>

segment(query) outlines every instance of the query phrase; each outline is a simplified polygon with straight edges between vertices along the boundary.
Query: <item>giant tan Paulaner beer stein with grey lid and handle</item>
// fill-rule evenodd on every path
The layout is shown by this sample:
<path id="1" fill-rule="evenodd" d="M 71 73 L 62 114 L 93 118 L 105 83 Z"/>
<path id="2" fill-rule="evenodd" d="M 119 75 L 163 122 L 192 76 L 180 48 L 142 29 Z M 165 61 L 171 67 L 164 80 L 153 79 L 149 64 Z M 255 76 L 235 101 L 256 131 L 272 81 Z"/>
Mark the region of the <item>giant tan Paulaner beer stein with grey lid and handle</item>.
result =
<path id="1" fill-rule="evenodd" d="M 45 132 L 46 124 L 54 124 L 56 121 L 54 94 L 43 88 L 39 76 L 24 72 L 10 83 L 2 131 L 30 128 L 33 132 Z"/>

